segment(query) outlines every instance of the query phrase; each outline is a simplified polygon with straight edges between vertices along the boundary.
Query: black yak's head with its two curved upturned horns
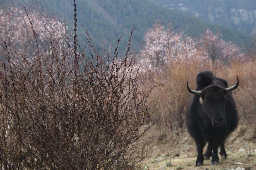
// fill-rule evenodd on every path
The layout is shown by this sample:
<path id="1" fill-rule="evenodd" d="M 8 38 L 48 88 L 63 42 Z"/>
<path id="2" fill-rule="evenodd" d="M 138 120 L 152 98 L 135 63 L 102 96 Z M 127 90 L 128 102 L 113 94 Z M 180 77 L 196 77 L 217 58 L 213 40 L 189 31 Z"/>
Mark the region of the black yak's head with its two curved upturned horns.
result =
<path id="1" fill-rule="evenodd" d="M 189 88 L 187 83 L 187 89 L 190 93 L 198 95 L 199 101 L 202 104 L 205 115 L 211 120 L 212 126 L 221 127 L 226 123 L 224 117 L 225 99 L 226 94 L 239 85 L 239 79 L 237 77 L 237 83 L 228 88 L 223 88 L 219 85 L 209 85 L 202 91 L 195 91 Z"/>

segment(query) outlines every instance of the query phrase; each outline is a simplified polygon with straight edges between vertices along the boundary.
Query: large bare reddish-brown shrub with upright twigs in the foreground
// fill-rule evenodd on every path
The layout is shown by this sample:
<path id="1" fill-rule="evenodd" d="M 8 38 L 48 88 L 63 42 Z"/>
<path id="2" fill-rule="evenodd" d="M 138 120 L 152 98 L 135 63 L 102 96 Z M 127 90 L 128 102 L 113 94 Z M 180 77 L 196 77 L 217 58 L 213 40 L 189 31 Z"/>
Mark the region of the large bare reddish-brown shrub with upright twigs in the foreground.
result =
<path id="1" fill-rule="evenodd" d="M 133 57 L 127 61 L 130 43 L 118 60 L 117 46 L 102 57 L 88 37 L 88 57 L 76 44 L 74 19 L 73 47 L 68 35 L 55 38 L 54 27 L 40 43 L 31 20 L 35 60 L 4 45 L 1 169 L 133 169 L 145 156 L 149 141 L 141 137 L 151 126 L 154 86 L 139 89 Z"/>

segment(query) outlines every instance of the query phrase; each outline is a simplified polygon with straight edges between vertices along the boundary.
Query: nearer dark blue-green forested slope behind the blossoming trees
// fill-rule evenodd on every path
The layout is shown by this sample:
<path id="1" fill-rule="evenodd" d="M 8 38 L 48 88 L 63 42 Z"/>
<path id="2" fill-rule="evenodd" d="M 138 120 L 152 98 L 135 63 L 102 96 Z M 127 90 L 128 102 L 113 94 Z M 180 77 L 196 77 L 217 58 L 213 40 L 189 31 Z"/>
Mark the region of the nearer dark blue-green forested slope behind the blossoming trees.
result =
<path id="1" fill-rule="evenodd" d="M 234 41 L 246 48 L 252 47 L 252 41 L 248 34 L 202 22 L 196 17 L 157 5 L 151 0 L 77 0 L 76 3 L 79 42 L 85 41 L 84 30 L 80 25 L 84 25 L 85 29 L 89 31 L 96 47 L 102 47 L 103 41 L 106 46 L 115 45 L 118 37 L 122 35 L 119 47 L 121 54 L 124 54 L 133 25 L 135 25 L 135 31 L 131 47 L 139 51 L 144 42 L 145 31 L 159 20 L 164 25 L 171 22 L 175 30 L 183 30 L 185 34 L 192 37 L 197 37 L 210 28 L 213 31 L 219 30 L 223 34 L 224 40 Z M 1 8 L 24 5 L 29 10 L 42 10 L 59 20 L 63 19 L 68 23 L 69 30 L 73 29 L 72 1 L 0 0 L 0 4 Z M 40 9 L 36 6 L 40 6 Z"/>

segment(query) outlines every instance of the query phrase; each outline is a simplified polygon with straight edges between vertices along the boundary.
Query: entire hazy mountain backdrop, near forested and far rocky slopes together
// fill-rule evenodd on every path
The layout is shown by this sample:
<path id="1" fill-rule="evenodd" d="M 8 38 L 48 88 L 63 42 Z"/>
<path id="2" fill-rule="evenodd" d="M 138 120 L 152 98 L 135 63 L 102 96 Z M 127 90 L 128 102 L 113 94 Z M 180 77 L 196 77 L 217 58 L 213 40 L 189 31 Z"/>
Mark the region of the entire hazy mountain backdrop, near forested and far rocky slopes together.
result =
<path id="1" fill-rule="evenodd" d="M 73 30 L 73 1 L 71 0 L 1 0 L 1 9 L 15 7 L 37 11 L 62 21 Z M 125 51 L 132 26 L 135 31 L 131 47 L 139 51 L 146 31 L 159 22 L 172 23 L 175 31 L 198 38 L 209 28 L 220 32 L 225 41 L 254 50 L 256 33 L 256 2 L 253 0 L 77 0 L 79 43 L 84 43 L 88 30 L 96 47 L 116 44 L 122 35 L 120 50 Z"/>

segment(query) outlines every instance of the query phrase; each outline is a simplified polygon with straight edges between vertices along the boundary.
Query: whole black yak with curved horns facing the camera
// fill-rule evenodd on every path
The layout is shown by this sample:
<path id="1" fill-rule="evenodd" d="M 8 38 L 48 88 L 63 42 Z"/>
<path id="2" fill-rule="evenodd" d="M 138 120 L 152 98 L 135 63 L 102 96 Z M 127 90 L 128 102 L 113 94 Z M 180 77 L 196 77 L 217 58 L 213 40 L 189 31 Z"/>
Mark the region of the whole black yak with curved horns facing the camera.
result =
<path id="1" fill-rule="evenodd" d="M 227 81 L 215 77 L 212 72 L 200 72 L 196 78 L 197 88 L 191 90 L 186 107 L 186 125 L 190 135 L 196 142 L 197 159 L 195 166 L 203 164 L 204 159 L 212 157 L 211 165 L 219 164 L 220 155 L 227 157 L 224 142 L 227 136 L 235 130 L 238 124 L 238 114 L 231 91 L 238 87 L 237 83 L 228 87 Z M 203 155 L 203 147 L 208 147 Z"/>

